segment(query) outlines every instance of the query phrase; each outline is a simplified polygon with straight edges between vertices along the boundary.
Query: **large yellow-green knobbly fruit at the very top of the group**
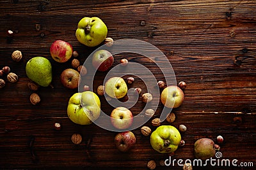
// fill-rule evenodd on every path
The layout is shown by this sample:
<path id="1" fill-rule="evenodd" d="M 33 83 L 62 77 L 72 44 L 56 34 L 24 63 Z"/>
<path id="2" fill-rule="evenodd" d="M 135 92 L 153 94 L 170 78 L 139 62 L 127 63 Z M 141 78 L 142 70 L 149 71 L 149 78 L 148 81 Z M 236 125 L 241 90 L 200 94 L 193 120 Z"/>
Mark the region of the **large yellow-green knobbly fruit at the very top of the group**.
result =
<path id="1" fill-rule="evenodd" d="M 108 28 L 98 17 L 82 18 L 76 30 L 77 40 L 86 46 L 97 46 L 107 37 Z"/>

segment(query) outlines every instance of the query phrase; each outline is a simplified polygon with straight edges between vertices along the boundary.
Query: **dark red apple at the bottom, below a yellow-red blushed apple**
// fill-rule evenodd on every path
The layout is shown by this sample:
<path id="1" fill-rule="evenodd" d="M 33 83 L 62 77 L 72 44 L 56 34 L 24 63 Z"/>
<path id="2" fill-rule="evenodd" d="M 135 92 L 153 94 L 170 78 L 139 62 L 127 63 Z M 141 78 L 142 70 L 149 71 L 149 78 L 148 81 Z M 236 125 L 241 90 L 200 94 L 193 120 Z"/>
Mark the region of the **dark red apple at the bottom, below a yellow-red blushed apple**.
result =
<path id="1" fill-rule="evenodd" d="M 131 131 L 119 132 L 115 136 L 115 145 L 121 152 L 128 152 L 134 148 L 136 137 Z"/>

